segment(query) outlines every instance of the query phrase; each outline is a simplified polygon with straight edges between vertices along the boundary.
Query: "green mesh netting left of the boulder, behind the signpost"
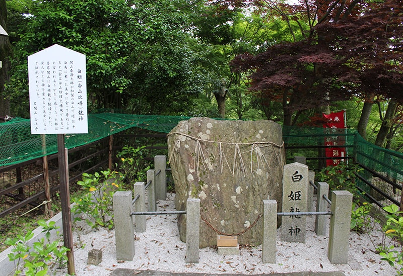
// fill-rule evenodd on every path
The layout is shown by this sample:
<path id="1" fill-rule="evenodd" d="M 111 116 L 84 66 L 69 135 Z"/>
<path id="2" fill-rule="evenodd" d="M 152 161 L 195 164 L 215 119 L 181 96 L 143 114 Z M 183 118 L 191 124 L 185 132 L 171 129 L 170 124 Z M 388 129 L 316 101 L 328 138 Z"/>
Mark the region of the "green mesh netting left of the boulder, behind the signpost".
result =
<path id="1" fill-rule="evenodd" d="M 66 134 L 65 147 L 74 148 L 132 127 L 165 132 L 190 117 L 115 113 L 88 116 L 88 134 Z M 15 118 L 0 124 L 0 166 L 28 161 L 57 152 L 57 135 L 32 135 L 30 120 Z"/>

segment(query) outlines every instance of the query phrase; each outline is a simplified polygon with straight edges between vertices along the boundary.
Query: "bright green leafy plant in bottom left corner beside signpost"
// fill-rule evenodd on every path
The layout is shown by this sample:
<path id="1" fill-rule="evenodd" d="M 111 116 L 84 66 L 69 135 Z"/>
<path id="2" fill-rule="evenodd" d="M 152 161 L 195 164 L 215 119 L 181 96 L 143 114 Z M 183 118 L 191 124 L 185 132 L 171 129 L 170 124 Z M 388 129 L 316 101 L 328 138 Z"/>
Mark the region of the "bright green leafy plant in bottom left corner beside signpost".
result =
<path id="1" fill-rule="evenodd" d="M 28 242 L 33 238 L 32 231 L 28 231 L 25 235 L 17 234 L 16 238 L 9 238 L 6 244 L 13 246 L 12 252 L 8 254 L 9 260 L 14 261 L 15 275 L 25 273 L 26 276 L 47 275 L 49 268 L 63 267 L 67 262 L 66 252 L 68 248 L 59 246 L 61 241 L 58 232 L 57 239 L 50 242 L 50 231 L 56 230 L 58 227 L 54 222 L 47 224 L 45 221 L 38 221 L 45 232 L 45 239 L 42 238 L 30 246 Z"/>

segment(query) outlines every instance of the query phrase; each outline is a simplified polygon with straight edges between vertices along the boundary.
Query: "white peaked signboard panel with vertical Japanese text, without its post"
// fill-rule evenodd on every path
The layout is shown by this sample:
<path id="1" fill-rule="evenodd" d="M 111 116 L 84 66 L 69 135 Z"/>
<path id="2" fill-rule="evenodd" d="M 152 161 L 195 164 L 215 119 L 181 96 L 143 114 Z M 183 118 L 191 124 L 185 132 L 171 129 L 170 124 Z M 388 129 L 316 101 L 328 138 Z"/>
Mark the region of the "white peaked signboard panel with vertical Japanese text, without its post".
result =
<path id="1" fill-rule="evenodd" d="M 88 133 L 85 55 L 53 45 L 28 57 L 32 134 Z"/>

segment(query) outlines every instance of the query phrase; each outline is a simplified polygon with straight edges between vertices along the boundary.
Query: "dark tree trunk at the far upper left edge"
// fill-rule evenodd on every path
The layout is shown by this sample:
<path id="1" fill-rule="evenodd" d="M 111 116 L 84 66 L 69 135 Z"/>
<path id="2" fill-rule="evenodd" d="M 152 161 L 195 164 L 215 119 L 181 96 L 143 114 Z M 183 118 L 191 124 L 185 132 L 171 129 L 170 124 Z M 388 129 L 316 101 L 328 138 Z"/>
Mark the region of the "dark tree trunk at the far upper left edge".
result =
<path id="1" fill-rule="evenodd" d="M 7 8 L 6 0 L 0 0 L 0 24 L 7 32 Z M 8 36 L 0 35 L 0 61 L 2 61 L 2 68 L 0 68 L 0 116 L 10 114 L 10 101 L 5 94 L 5 83 L 10 79 L 9 69 L 11 53 L 11 45 Z"/>

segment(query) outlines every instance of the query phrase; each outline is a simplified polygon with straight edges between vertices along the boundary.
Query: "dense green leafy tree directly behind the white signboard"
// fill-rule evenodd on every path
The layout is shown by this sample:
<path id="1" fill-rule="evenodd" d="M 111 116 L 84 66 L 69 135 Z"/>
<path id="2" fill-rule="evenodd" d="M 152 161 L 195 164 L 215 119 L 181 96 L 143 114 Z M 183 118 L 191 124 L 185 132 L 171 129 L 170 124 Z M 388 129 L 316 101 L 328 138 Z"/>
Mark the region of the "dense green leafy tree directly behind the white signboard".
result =
<path id="1" fill-rule="evenodd" d="M 187 45 L 188 16 L 179 9 L 186 3 L 34 2 L 15 45 L 10 94 L 15 91 L 13 95 L 20 97 L 15 101 L 27 98 L 27 56 L 57 43 L 87 56 L 89 110 L 179 111 L 200 90 L 195 87 L 193 53 Z"/>

